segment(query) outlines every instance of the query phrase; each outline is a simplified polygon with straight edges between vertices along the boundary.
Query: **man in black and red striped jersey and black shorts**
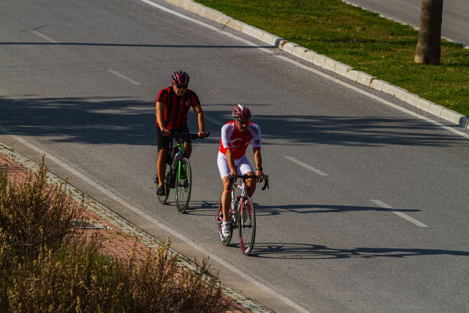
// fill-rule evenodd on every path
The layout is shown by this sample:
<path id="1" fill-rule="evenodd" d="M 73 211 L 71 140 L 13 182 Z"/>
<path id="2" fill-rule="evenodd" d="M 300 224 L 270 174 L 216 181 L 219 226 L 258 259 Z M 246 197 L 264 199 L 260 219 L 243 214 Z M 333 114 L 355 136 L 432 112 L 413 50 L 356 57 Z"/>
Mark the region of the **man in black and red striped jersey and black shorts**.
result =
<path id="1" fill-rule="evenodd" d="M 156 170 L 158 173 L 157 195 L 165 195 L 163 184 L 166 171 L 166 157 L 169 151 L 169 141 L 172 132 L 186 132 L 187 114 L 192 107 L 199 123 L 198 135 L 200 138 L 207 137 L 205 133 L 205 119 L 199 97 L 191 89 L 187 88 L 189 75 L 184 71 L 175 71 L 171 75 L 171 86 L 162 89 L 156 100 L 156 142 L 158 146 L 158 160 Z M 184 156 L 189 159 L 192 152 L 190 139 L 184 140 Z"/>

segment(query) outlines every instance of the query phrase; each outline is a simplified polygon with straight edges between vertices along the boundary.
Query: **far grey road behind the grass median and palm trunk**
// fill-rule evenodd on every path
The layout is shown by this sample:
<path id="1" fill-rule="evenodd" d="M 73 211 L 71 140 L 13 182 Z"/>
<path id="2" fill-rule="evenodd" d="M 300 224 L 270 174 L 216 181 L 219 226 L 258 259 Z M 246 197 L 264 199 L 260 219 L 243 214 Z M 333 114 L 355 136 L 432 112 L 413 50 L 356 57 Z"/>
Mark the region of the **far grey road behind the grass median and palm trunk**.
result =
<path id="1" fill-rule="evenodd" d="M 421 0 L 347 0 L 347 2 L 415 27 L 420 25 Z M 468 17 L 467 0 L 446 0 L 443 3 L 441 35 L 469 45 Z"/>

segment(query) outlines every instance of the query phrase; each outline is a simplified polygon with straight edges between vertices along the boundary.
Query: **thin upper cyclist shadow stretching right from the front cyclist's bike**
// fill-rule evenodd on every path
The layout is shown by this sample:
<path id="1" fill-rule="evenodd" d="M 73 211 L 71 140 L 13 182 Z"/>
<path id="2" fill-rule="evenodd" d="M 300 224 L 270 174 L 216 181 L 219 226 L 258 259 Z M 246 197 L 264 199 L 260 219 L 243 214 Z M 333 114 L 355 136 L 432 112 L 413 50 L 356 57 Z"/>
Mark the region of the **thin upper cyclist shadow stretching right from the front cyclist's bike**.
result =
<path id="1" fill-rule="evenodd" d="M 269 216 L 279 215 L 282 213 L 344 213 L 353 211 L 383 211 L 383 212 L 420 212 L 415 209 L 386 209 L 382 207 L 365 207 L 365 206 L 344 206 L 344 205 L 323 205 L 323 204 L 300 204 L 285 206 L 266 206 L 254 203 L 256 215 Z"/>

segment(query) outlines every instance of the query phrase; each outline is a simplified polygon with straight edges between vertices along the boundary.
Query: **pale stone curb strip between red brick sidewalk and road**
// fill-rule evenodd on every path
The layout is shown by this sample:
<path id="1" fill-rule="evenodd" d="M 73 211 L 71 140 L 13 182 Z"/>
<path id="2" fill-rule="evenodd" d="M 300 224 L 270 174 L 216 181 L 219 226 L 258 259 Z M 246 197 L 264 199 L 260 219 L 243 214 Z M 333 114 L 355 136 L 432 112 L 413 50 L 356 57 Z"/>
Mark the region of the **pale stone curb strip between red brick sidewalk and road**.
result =
<path id="1" fill-rule="evenodd" d="M 39 170 L 39 165 L 35 163 L 34 161 L 28 159 L 26 156 L 15 152 L 14 149 L 8 147 L 7 145 L 3 144 L 0 142 L 0 153 L 4 154 L 11 160 L 17 162 L 27 170 L 31 170 L 32 172 L 37 172 Z M 54 186 L 59 186 L 59 185 L 65 185 L 65 181 L 56 176 L 52 172 L 48 172 L 48 183 L 54 185 Z M 153 237 L 151 234 L 147 233 L 145 230 L 140 229 L 138 226 L 135 224 L 131 223 L 130 221 L 126 220 L 116 212 L 112 211 L 111 209 L 107 208 L 103 204 L 99 203 L 95 199 L 89 197 L 88 195 L 82 193 L 79 189 L 71 185 L 70 183 L 67 183 L 67 188 L 66 192 L 70 192 L 71 198 L 76 201 L 77 203 L 82 203 L 82 199 L 84 202 L 82 203 L 83 206 L 106 220 L 109 224 L 111 224 L 113 227 L 116 229 L 119 229 L 121 232 L 124 234 L 130 236 L 130 237 L 136 237 L 138 241 L 147 247 L 151 248 L 153 251 L 157 251 L 158 246 L 160 245 L 161 241 L 158 240 L 157 238 Z M 100 225 L 99 223 L 93 223 L 94 225 L 98 226 L 103 226 Z M 169 248 L 169 252 L 171 254 L 176 253 L 174 249 L 171 247 Z M 183 255 L 179 254 L 179 259 L 178 259 L 178 264 L 179 266 L 189 268 L 193 271 L 196 271 L 196 267 L 194 263 L 184 257 Z M 242 295 L 238 291 L 228 288 L 224 286 L 220 282 L 220 286 L 222 287 L 223 293 L 231 298 L 234 302 L 238 303 L 244 309 L 249 310 L 250 312 L 253 313 L 272 313 L 273 311 L 260 305 L 259 303 L 255 302 L 254 300 Z M 235 310 L 235 311 L 240 311 L 240 310 Z"/>

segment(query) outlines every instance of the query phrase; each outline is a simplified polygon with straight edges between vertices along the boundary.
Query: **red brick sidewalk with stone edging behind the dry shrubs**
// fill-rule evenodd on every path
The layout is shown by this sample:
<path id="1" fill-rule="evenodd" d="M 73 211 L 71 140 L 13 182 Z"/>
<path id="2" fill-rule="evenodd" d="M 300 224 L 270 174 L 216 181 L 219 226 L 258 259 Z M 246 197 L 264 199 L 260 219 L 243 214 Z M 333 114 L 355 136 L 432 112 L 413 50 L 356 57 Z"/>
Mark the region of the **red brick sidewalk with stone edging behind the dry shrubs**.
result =
<path id="1" fill-rule="evenodd" d="M 35 169 L 38 168 L 38 165 L 34 162 L 18 153 L 15 153 L 0 143 L 0 171 L 5 171 L 7 165 L 8 178 L 17 180 L 24 179 L 29 170 L 35 172 Z M 50 179 L 48 182 L 52 185 L 58 185 L 58 183 L 63 182 L 62 179 L 50 172 L 49 177 Z M 72 191 L 72 198 L 81 203 L 81 192 L 71 185 L 69 185 L 69 187 Z M 156 255 L 156 248 L 160 242 L 158 242 L 154 237 L 150 236 L 143 230 L 140 230 L 136 226 L 131 225 L 130 222 L 86 195 L 84 207 L 85 211 L 83 212 L 83 218 L 88 222 L 88 224 L 84 225 L 88 227 L 85 227 L 84 231 L 88 234 L 95 231 L 103 235 L 104 253 L 125 259 L 127 254 L 135 245 L 135 255 L 139 259 L 145 259 L 147 251 Z M 186 261 L 187 259 L 181 258 L 181 260 L 184 260 L 179 262 L 181 266 L 186 266 L 191 269 L 195 268 L 190 261 Z M 272 312 L 232 289 L 223 286 L 223 291 L 226 298 L 230 301 L 230 306 L 226 313 Z"/>

